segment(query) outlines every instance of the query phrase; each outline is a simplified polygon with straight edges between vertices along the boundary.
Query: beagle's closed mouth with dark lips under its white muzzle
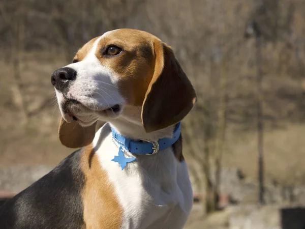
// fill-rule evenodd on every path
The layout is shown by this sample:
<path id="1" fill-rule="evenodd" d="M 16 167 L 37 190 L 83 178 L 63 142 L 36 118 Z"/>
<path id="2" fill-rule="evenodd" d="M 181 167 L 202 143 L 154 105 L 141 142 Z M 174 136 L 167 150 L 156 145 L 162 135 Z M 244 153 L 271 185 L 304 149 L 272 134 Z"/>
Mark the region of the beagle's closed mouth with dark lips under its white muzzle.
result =
<path id="1" fill-rule="evenodd" d="M 62 104 L 63 118 L 66 122 L 80 122 L 83 125 L 86 125 L 88 121 L 88 116 L 106 116 L 106 117 L 115 117 L 121 110 L 119 104 L 115 104 L 105 109 L 93 109 L 85 106 L 76 99 L 67 99 L 66 102 Z M 82 121 L 82 116 L 85 114 L 87 118 L 84 117 L 86 121 Z"/>

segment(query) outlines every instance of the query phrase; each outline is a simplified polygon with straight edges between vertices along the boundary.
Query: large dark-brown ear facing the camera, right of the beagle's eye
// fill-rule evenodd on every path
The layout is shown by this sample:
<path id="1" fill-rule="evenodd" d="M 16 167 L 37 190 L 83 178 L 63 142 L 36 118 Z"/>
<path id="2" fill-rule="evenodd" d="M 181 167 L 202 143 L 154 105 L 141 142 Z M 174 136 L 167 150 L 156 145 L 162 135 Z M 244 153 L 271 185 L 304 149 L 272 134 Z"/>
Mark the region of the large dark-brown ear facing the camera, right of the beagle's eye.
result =
<path id="1" fill-rule="evenodd" d="M 155 71 L 142 107 L 142 123 L 146 132 L 181 121 L 196 102 L 195 90 L 172 49 L 156 39 L 154 50 Z"/>

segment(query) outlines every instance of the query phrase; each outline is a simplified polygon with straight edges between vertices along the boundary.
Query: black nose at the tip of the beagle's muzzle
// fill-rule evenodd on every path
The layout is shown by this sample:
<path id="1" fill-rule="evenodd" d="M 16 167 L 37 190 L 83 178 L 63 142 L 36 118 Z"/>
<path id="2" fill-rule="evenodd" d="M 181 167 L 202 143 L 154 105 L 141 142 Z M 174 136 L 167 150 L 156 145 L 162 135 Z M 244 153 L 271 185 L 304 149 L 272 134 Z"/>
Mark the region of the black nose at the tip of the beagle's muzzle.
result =
<path id="1" fill-rule="evenodd" d="M 63 91 L 72 80 L 76 79 L 76 74 L 77 72 L 72 68 L 59 68 L 53 72 L 51 83 L 58 91 Z"/>

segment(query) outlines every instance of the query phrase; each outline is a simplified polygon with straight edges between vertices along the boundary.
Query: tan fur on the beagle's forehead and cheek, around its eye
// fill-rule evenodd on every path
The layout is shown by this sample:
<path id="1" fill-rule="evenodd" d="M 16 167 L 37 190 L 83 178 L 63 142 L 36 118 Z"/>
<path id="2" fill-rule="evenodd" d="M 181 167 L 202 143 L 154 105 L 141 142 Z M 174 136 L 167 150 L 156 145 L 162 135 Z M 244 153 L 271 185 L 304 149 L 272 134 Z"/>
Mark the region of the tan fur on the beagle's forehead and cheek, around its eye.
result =
<path id="1" fill-rule="evenodd" d="M 98 44 L 97 58 L 120 77 L 118 89 L 130 105 L 142 106 L 153 76 L 153 39 L 156 37 L 143 31 L 122 29 L 105 35 Z M 103 55 L 109 45 L 123 51 L 116 56 Z"/>

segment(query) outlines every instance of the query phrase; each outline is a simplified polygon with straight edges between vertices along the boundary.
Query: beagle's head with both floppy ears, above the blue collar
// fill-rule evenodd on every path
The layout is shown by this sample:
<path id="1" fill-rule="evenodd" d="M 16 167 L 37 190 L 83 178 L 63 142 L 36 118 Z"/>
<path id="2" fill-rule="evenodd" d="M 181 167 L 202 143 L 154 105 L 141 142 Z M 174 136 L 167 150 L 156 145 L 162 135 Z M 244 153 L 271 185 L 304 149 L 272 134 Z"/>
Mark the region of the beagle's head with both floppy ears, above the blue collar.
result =
<path id="1" fill-rule="evenodd" d="M 172 49 L 131 29 L 89 41 L 72 64 L 52 74 L 51 82 L 62 113 L 59 138 L 70 148 L 92 142 L 97 120 L 139 119 L 146 132 L 153 132 L 182 120 L 196 102 Z"/>

